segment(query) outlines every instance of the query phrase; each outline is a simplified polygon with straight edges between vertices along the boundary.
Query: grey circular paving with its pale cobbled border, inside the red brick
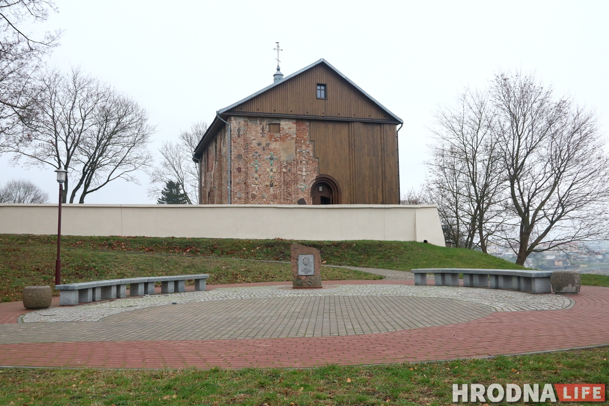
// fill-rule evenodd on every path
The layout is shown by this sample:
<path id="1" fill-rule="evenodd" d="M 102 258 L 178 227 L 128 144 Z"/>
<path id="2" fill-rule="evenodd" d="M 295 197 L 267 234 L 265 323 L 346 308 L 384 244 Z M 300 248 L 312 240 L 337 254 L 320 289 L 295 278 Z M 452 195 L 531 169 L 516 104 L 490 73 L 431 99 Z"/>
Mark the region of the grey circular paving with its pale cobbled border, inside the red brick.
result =
<path id="1" fill-rule="evenodd" d="M 38 310 L 1 325 L 0 344 L 364 335 L 569 306 L 560 295 L 447 286 L 238 287 Z"/>

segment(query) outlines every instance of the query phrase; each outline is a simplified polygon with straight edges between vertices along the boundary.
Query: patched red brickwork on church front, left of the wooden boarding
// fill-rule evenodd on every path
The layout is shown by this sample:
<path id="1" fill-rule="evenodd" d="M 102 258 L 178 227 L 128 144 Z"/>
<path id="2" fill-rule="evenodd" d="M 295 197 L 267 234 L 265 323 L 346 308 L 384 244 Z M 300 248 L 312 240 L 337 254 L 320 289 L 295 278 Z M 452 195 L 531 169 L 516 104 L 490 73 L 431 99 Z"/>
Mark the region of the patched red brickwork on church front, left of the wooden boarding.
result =
<path id="1" fill-rule="evenodd" d="M 309 141 L 309 122 L 232 116 L 231 203 L 311 205 L 311 185 L 319 164 Z M 279 133 L 269 132 L 279 124 Z M 276 126 L 272 126 L 276 127 Z"/>

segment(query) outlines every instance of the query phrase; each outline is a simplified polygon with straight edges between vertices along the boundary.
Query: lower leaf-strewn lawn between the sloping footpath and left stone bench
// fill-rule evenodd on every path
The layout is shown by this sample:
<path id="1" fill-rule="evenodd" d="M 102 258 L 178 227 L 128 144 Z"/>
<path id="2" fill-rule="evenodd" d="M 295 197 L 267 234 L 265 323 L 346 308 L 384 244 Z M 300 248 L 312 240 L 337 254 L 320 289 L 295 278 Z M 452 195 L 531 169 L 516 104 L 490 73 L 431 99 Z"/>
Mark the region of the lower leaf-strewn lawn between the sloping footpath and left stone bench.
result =
<path id="1" fill-rule="evenodd" d="M 21 300 L 26 285 L 54 285 L 54 245 L 36 237 L 0 237 L 1 301 Z M 98 251 L 67 246 L 62 251 L 62 282 L 99 281 L 136 276 L 208 273 L 208 284 L 290 281 L 289 264 L 208 258 L 195 254 Z M 343 268 L 322 267 L 326 281 L 382 279 L 382 276 Z M 58 295 L 58 292 L 55 292 Z"/>

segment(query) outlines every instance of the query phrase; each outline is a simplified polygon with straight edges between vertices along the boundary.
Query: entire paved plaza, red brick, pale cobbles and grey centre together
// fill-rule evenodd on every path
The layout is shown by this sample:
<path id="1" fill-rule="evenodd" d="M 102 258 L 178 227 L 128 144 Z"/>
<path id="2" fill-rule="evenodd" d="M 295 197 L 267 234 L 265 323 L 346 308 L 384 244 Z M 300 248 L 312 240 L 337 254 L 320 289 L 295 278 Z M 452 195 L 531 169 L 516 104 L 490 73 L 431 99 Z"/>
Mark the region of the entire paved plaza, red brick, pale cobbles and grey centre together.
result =
<path id="1" fill-rule="evenodd" d="M 209 285 L 29 312 L 4 303 L 0 365 L 294 368 L 609 344 L 609 288 L 531 295 L 415 286 L 410 273 L 386 272 L 382 281 L 328 281 L 319 290 Z"/>

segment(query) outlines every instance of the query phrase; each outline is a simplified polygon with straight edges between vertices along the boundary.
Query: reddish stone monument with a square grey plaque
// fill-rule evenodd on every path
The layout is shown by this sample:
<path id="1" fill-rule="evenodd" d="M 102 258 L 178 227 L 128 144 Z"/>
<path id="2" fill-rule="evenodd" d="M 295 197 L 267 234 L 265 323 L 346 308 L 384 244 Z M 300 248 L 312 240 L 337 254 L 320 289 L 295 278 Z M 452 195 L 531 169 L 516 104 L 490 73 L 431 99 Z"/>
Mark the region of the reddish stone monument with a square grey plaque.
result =
<path id="1" fill-rule="evenodd" d="M 292 244 L 292 287 L 294 289 L 322 289 L 322 260 L 319 251 L 304 245 Z"/>

